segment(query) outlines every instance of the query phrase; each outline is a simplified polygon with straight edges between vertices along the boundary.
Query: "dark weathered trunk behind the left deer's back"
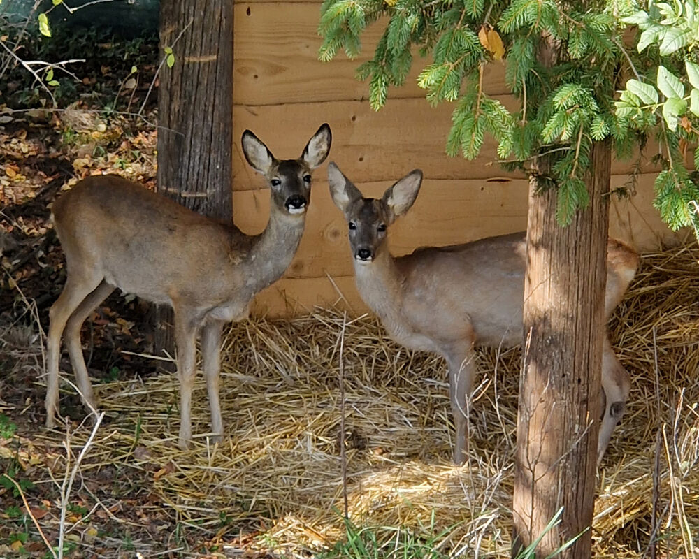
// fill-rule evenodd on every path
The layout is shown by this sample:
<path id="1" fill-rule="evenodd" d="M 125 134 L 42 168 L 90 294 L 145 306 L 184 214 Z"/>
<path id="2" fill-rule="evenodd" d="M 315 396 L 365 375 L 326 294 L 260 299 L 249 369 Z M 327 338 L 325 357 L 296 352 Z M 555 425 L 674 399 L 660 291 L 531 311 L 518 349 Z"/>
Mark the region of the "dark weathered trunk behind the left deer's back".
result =
<path id="1" fill-rule="evenodd" d="M 158 191 L 232 222 L 233 2 L 162 0 Z M 156 307 L 155 351 L 174 356 L 172 311 Z"/>

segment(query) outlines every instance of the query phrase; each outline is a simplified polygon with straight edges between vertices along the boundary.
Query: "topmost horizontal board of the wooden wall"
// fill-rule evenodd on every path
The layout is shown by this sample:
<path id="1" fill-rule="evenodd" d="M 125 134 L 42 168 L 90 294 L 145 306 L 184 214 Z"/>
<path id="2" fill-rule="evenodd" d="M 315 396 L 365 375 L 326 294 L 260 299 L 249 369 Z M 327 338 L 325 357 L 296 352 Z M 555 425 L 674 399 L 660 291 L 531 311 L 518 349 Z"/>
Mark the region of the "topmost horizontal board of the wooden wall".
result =
<path id="1" fill-rule="evenodd" d="M 356 59 L 338 53 L 329 63 L 318 60 L 319 2 L 237 2 L 233 8 L 233 103 L 273 105 L 308 101 L 360 101 L 368 98 L 368 82 L 354 78 L 359 64 L 373 57 L 384 24 L 371 24 Z M 389 101 L 425 96 L 417 76 L 431 57 L 415 55 L 402 87 L 389 89 Z M 505 94 L 505 66 L 489 64 L 484 72 L 489 94 Z"/>

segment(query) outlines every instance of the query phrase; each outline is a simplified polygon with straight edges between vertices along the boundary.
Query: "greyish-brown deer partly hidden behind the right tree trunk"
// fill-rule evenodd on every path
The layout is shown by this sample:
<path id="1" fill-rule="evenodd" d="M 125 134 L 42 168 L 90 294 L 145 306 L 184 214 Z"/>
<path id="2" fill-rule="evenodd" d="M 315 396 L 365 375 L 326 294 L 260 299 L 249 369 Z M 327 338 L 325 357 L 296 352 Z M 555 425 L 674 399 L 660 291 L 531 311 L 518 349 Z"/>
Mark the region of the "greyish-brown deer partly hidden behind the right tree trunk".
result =
<path id="1" fill-rule="evenodd" d="M 473 388 L 474 347 L 521 343 L 526 238 L 490 237 L 450 247 L 421 248 L 400 258 L 389 252 L 387 227 L 407 212 L 422 182 L 420 170 L 398 180 L 380 200 L 364 198 L 336 164 L 328 166 L 330 192 L 349 226 L 357 289 L 399 344 L 433 351 L 449 368 L 456 428 L 454 462 L 466 460 L 467 398 Z M 635 275 L 638 255 L 624 243 L 607 244 L 605 317 L 609 319 Z M 605 335 L 604 415 L 598 461 L 624 414 L 628 373 Z"/>

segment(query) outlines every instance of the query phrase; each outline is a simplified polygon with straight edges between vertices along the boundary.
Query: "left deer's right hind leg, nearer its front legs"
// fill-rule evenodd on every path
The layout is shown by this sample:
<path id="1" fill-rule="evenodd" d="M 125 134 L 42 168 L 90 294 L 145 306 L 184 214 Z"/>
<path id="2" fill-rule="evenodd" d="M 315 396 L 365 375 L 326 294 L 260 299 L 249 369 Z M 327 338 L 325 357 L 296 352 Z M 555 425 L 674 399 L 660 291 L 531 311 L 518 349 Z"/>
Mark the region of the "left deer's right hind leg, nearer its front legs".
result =
<path id="1" fill-rule="evenodd" d="M 80 343 L 80 329 L 85 319 L 90 313 L 103 301 L 109 294 L 114 291 L 114 287 L 102 280 L 101 284 L 90 293 L 78 308 L 73 311 L 68 319 L 65 328 L 66 346 L 68 353 L 71 356 L 71 365 L 73 365 L 73 373 L 78 380 L 78 389 L 85 405 L 93 414 L 96 413 L 96 401 L 92 393 L 92 384 L 89 382 L 87 374 L 87 366 L 85 366 L 85 357 L 82 356 L 82 344 Z"/>

